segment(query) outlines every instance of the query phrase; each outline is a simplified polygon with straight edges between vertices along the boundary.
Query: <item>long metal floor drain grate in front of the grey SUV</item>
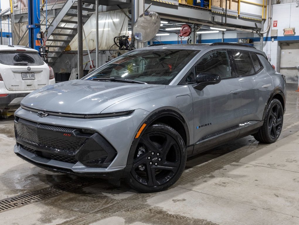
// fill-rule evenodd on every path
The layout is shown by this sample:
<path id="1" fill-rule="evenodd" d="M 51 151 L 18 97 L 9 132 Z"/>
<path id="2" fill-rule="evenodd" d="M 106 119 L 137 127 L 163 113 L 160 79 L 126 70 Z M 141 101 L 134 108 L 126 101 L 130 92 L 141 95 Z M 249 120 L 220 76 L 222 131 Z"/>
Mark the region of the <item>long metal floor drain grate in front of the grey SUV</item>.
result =
<path id="1" fill-rule="evenodd" d="M 28 205 L 44 199 L 52 198 L 65 192 L 87 187 L 99 183 L 100 179 L 78 178 L 65 183 L 57 184 L 51 187 L 39 189 L 33 192 L 17 195 L 11 198 L 0 200 L 0 212 L 4 212 L 13 208 Z"/>

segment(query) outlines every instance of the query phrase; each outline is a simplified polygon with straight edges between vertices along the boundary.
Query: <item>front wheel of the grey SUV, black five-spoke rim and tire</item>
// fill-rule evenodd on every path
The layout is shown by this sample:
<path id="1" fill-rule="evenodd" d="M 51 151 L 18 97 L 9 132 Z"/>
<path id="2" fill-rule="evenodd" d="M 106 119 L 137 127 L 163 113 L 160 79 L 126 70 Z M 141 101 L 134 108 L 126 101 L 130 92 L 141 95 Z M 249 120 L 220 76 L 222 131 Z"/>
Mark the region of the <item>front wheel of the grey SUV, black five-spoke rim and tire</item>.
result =
<path id="1" fill-rule="evenodd" d="M 186 165 L 186 146 L 166 124 L 154 124 L 139 139 L 126 182 L 138 192 L 159 192 L 172 186 Z"/>

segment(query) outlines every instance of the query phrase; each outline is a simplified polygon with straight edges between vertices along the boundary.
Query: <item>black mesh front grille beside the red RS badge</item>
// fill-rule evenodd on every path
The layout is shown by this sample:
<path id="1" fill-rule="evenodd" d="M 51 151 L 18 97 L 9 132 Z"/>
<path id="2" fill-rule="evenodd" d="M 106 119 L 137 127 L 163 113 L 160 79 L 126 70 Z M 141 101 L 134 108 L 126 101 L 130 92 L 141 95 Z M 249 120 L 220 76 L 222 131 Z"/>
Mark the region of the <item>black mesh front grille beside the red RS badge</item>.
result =
<path id="1" fill-rule="evenodd" d="M 69 137 L 64 136 L 64 133 L 72 133 L 75 130 L 75 128 L 38 124 L 22 118 L 19 118 L 15 126 L 16 137 L 25 142 L 36 146 L 73 153 L 76 152 L 87 139 L 86 137 L 72 137 L 72 134 L 70 134 L 71 136 Z"/>

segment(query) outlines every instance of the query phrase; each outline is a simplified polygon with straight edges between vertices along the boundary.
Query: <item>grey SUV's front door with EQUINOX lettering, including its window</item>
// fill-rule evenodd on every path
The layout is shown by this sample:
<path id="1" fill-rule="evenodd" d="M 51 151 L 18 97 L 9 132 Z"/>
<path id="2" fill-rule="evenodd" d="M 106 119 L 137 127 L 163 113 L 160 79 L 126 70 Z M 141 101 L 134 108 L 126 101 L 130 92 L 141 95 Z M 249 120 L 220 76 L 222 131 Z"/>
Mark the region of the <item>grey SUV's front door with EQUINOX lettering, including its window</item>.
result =
<path id="1" fill-rule="evenodd" d="M 195 73 L 212 73 L 221 77 L 215 85 L 208 85 L 202 91 L 189 85 L 193 98 L 194 141 L 195 144 L 220 137 L 224 140 L 236 137 L 239 131 L 233 131 L 240 122 L 241 86 L 237 77 L 231 73 L 230 59 L 226 50 L 216 50 L 207 53 L 199 60 Z M 190 72 L 192 73 L 192 71 Z M 186 77 L 190 82 L 192 77 Z M 218 140 L 221 140 L 218 139 Z M 201 151 L 194 149 L 195 152 Z M 193 153 L 195 153 L 193 152 Z"/>

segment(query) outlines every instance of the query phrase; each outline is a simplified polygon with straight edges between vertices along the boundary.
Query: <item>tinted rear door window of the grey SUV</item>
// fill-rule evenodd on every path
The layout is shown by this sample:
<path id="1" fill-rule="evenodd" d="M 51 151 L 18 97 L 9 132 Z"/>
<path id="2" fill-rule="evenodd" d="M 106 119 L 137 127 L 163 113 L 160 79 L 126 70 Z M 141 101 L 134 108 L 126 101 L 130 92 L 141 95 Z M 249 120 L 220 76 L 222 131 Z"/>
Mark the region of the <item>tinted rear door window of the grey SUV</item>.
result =
<path id="1" fill-rule="evenodd" d="M 255 74 L 251 57 L 248 52 L 232 51 L 237 67 L 238 76 L 248 76 Z"/>

